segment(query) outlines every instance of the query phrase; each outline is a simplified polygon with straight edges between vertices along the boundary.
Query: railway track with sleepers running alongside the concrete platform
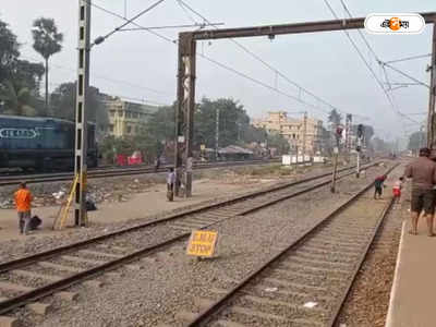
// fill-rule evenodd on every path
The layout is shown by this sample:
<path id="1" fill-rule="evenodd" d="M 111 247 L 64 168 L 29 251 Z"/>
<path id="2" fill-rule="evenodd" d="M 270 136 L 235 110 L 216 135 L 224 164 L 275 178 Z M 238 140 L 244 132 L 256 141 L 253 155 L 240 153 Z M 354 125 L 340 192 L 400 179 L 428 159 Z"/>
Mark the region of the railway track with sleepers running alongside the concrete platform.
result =
<path id="1" fill-rule="evenodd" d="M 241 282 L 228 281 L 228 289 L 197 299 L 195 312 L 180 314 L 193 317 L 183 326 L 336 326 L 370 246 L 393 206 L 393 198 L 374 202 L 367 195 L 372 185 L 296 241 L 278 244 L 276 254 Z"/>

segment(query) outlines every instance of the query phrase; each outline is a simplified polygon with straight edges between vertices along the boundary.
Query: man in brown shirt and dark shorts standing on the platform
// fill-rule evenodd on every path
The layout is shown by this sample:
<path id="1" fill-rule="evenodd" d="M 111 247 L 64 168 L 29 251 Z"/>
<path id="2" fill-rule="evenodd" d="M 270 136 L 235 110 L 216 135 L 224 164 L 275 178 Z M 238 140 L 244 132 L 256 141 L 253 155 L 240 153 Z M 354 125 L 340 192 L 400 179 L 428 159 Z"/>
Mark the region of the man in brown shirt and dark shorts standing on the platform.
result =
<path id="1" fill-rule="evenodd" d="M 420 149 L 420 157 L 412 161 L 404 171 L 404 177 L 412 179 L 411 220 L 412 229 L 409 233 L 417 234 L 417 220 L 424 210 L 428 237 L 434 237 L 433 215 L 435 213 L 436 164 L 429 159 L 429 148 Z"/>

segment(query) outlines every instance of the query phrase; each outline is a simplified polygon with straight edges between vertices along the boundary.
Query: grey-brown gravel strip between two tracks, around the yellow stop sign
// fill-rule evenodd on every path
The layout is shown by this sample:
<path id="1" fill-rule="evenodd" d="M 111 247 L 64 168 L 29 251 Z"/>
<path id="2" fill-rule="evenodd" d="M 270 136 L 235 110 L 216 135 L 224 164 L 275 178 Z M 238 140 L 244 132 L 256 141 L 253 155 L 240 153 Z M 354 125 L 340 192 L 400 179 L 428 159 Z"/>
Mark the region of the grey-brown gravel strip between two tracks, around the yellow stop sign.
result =
<path id="1" fill-rule="evenodd" d="M 327 186 L 219 223 L 218 256 L 214 259 L 187 257 L 185 242 L 181 242 L 138 262 L 141 270 L 121 268 L 117 271 L 123 277 L 100 277 L 108 284 L 98 291 L 72 288 L 80 292 L 80 301 L 73 305 L 55 303 L 55 311 L 44 320 L 35 320 L 25 311 L 19 315 L 27 316 L 29 326 L 181 326 L 175 315 L 194 307 L 194 299 L 208 298 L 213 289 L 241 280 L 385 169 L 373 168 L 359 182 L 354 177 L 339 181 L 335 195 Z"/>

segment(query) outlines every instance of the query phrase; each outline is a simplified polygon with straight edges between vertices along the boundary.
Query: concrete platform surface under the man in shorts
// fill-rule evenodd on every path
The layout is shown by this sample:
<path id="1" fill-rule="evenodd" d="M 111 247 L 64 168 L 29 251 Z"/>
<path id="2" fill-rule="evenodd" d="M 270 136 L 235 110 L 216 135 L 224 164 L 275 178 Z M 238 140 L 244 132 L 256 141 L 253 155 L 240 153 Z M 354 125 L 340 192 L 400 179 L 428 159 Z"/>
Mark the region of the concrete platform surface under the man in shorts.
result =
<path id="1" fill-rule="evenodd" d="M 386 327 L 436 326 L 436 238 L 428 238 L 420 218 L 419 234 L 403 222 Z"/>

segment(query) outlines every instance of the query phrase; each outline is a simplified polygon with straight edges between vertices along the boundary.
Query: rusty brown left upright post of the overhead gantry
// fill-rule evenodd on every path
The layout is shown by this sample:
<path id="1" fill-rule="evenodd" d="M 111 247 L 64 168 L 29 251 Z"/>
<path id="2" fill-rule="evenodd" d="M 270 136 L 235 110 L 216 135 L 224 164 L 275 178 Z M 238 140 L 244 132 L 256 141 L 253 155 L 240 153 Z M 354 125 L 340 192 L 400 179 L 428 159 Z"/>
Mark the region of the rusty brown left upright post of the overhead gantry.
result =
<path id="1" fill-rule="evenodd" d="M 192 195 L 192 145 L 195 107 L 195 40 L 192 33 L 179 35 L 178 106 L 175 113 L 175 195 L 182 178 L 184 196 Z M 183 154 L 184 149 L 184 154 Z M 184 167 L 184 172 L 182 172 Z"/>

